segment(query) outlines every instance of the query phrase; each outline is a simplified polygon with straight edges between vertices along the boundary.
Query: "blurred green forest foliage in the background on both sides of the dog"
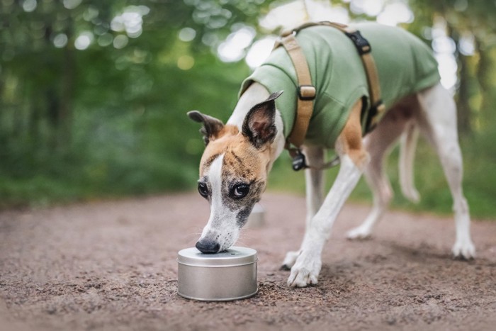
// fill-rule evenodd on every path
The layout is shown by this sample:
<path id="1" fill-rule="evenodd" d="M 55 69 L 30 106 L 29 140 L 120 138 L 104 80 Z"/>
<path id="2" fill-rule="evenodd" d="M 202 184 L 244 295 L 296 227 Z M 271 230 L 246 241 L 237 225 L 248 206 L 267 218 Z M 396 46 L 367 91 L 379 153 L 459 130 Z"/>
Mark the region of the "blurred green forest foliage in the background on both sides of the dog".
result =
<path id="1" fill-rule="evenodd" d="M 273 2 L 283 3 L 1 0 L 0 208 L 193 189 L 203 142 L 200 125 L 186 112 L 198 109 L 227 120 L 249 69 L 243 62 L 220 62 L 216 47 L 240 26 L 257 30 Z M 453 40 L 475 35 L 475 55 L 457 53 L 466 69 L 458 86 L 466 115 L 465 190 L 475 216 L 494 217 L 496 6 L 459 0 L 412 0 L 410 6 L 415 21 L 407 28 L 417 35 L 438 16 L 446 17 Z M 135 15 L 134 26 L 125 26 L 123 13 Z M 179 38 L 184 28 L 192 29 L 191 40 Z M 81 35 L 92 38 L 87 47 L 75 47 Z M 388 164 L 399 192 L 397 154 Z M 431 159 L 433 152 L 421 144 L 416 161 L 422 166 L 416 167 L 421 204 L 397 194 L 393 206 L 449 213 L 446 181 Z M 270 190 L 304 192 L 303 174 L 289 164 L 284 153 L 271 173 Z M 329 171 L 328 186 L 336 174 L 337 169 Z M 368 196 L 361 182 L 353 198 Z"/>

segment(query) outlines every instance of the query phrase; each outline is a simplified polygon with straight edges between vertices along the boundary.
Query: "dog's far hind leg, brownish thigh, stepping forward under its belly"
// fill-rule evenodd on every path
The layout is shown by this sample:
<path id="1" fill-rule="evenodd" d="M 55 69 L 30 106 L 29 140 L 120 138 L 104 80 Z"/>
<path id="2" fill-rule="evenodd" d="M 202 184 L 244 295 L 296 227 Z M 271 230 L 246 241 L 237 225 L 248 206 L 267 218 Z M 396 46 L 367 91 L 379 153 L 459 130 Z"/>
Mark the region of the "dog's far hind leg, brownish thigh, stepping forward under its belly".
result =
<path id="1" fill-rule="evenodd" d="M 418 103 L 415 96 L 410 96 L 391 108 L 377 125 L 377 128 L 364 139 L 364 145 L 371 162 L 365 169 L 365 178 L 373 193 L 373 208 L 371 213 L 358 227 L 346 232 L 348 239 L 364 239 L 371 235 L 373 226 L 380 220 L 388 208 L 393 190 L 388 176 L 383 169 L 383 161 L 390 151 L 391 145 L 398 140 L 405 130 L 415 125 L 413 107 Z"/>

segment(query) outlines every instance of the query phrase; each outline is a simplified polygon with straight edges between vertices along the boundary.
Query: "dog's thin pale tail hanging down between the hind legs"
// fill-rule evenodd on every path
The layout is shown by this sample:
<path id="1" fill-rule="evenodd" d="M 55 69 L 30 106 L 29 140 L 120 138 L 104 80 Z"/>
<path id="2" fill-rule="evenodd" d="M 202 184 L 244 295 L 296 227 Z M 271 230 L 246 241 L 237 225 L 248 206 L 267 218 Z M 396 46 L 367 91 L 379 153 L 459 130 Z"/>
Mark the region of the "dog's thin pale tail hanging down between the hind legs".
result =
<path id="1" fill-rule="evenodd" d="M 407 126 L 400 140 L 400 185 L 405 198 L 417 203 L 420 200 L 419 192 L 413 181 L 413 161 L 415 148 L 419 138 L 419 129 L 415 122 Z"/>

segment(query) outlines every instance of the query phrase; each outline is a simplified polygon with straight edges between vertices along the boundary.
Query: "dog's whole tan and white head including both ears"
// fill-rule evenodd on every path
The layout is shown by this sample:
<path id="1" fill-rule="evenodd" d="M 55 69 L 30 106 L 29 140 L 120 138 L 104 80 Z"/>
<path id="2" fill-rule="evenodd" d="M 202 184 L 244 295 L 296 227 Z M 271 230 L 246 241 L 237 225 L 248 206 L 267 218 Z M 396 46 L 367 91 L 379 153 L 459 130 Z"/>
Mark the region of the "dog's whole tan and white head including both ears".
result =
<path id="1" fill-rule="evenodd" d="M 196 247 L 203 253 L 229 248 L 261 193 L 271 167 L 271 144 L 276 138 L 274 93 L 247 113 L 241 130 L 217 118 L 190 111 L 203 123 L 205 151 L 201 157 L 198 192 L 210 203 L 210 218 Z"/>

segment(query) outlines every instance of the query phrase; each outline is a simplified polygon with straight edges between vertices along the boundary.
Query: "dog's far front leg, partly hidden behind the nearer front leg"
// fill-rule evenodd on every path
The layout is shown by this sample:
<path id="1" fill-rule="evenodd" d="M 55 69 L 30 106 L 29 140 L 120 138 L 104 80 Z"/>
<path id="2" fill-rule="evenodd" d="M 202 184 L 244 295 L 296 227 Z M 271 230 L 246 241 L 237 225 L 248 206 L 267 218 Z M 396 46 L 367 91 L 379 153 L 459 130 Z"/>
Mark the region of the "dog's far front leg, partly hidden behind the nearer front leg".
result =
<path id="1" fill-rule="evenodd" d="M 322 199 L 324 193 L 325 174 L 320 166 L 324 163 L 325 151 L 322 147 L 304 146 L 303 154 L 307 159 L 310 168 L 305 169 L 305 184 L 306 184 L 306 198 L 307 198 L 307 218 L 306 218 L 306 231 L 310 227 L 310 220 L 317 213 L 320 206 L 322 206 Z M 312 168 L 315 167 L 315 168 Z M 305 231 L 305 232 L 306 232 Z M 283 269 L 291 269 L 295 264 L 300 250 L 288 252 L 283 261 Z"/>

